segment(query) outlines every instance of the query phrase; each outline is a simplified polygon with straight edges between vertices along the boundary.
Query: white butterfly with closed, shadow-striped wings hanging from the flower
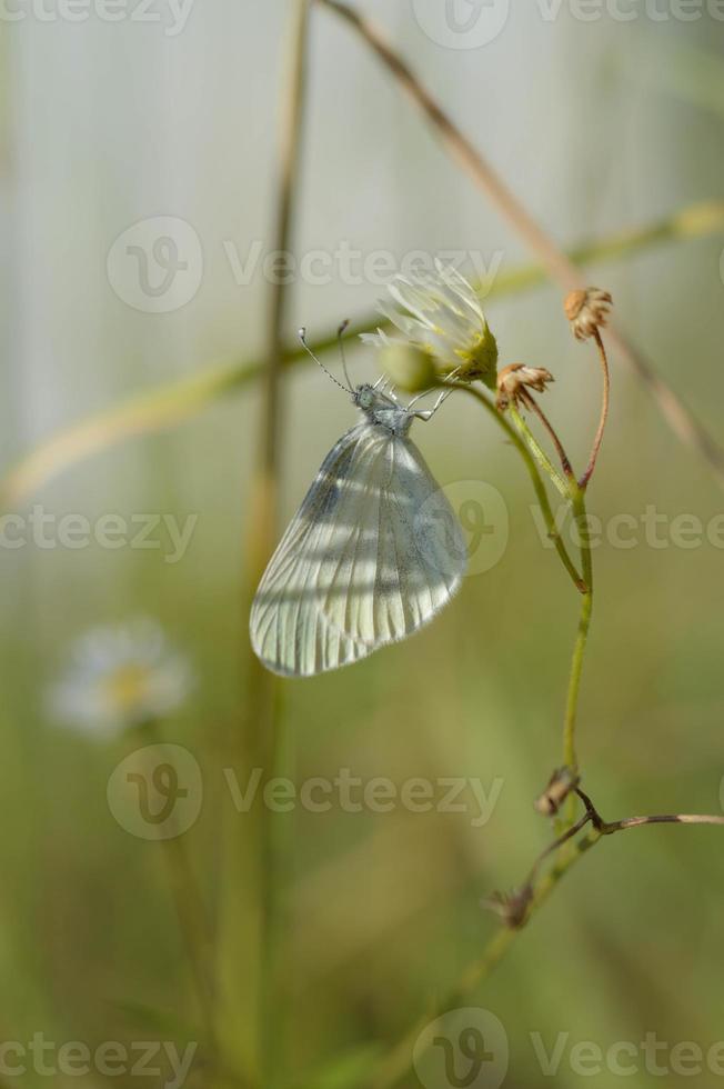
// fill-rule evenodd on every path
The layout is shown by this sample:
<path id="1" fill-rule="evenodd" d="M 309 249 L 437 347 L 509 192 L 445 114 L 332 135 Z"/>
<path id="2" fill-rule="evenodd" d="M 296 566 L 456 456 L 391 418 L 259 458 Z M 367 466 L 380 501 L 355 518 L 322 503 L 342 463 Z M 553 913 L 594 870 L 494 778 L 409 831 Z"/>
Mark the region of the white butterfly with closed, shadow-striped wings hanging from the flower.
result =
<path id="1" fill-rule="evenodd" d="M 405 639 L 464 575 L 457 518 L 408 437 L 445 393 L 418 412 L 381 381 L 342 387 L 364 419 L 324 459 L 257 590 L 251 642 L 275 673 L 311 677 Z"/>

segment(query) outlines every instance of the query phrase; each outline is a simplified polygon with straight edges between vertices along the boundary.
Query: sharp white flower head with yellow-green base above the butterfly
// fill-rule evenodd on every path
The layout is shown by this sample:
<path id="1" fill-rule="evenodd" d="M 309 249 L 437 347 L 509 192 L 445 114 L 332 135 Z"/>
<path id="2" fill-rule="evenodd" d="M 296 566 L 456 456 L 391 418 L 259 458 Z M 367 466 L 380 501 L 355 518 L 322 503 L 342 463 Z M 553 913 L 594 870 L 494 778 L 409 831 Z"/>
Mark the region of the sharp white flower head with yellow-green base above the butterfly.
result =
<path id="1" fill-rule="evenodd" d="M 388 290 L 396 307 L 381 300 L 378 309 L 403 336 L 378 329 L 362 333 L 365 343 L 385 350 L 412 344 L 432 358 L 439 377 L 455 371 L 461 381 L 480 378 L 495 388 L 495 337 L 473 288 L 456 269 L 435 261 L 435 272 L 396 276 Z"/>

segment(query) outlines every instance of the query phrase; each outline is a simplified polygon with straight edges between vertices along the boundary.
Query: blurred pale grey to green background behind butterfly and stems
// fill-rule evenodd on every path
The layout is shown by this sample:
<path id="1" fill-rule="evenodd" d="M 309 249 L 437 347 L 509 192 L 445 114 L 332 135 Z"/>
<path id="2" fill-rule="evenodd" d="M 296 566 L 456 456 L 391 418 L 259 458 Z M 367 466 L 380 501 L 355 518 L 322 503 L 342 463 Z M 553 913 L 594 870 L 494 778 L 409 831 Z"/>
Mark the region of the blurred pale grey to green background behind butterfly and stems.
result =
<path id="1" fill-rule="evenodd" d="M 424 8 L 364 3 L 560 244 L 721 197 L 724 23 L 705 6 L 691 21 L 664 3 L 661 19 L 633 4 L 632 21 L 605 7 L 584 21 L 566 4 L 553 19 L 537 4 L 514 6 L 495 39 L 473 49 L 432 40 Z M 171 34 L 161 3 L 159 22 L 127 14 L 111 23 L 94 9 L 86 21 L 52 21 L 24 10 L 18 22 L 0 19 L 8 467 L 125 397 L 263 351 L 269 282 L 261 269 L 238 282 L 229 254 L 245 260 L 255 242 L 271 244 L 290 16 L 282 0 L 197 0 Z M 328 12 L 313 14 L 294 252 L 349 243 L 401 262 L 413 250 L 464 250 L 486 261 L 500 254 L 501 273 L 530 260 L 361 43 Z M 165 313 L 129 306 L 107 274 L 114 240 L 158 216 L 191 224 L 203 252 L 198 290 Z M 613 293 L 621 327 L 724 439 L 722 244 L 716 233 L 668 240 L 594 266 L 587 278 Z M 474 273 L 470 263 L 463 270 Z M 290 337 L 302 323 L 313 339 L 365 316 L 383 293 L 363 276 L 343 279 L 334 263 L 328 282 L 295 279 Z M 593 349 L 570 334 L 560 289 L 494 298 L 486 312 L 502 363 L 524 360 L 555 374 L 546 410 L 582 464 L 599 373 Z M 370 352 L 352 354 L 356 380 L 374 364 Z M 706 523 L 722 511 L 712 473 L 615 353 L 612 364 L 613 410 L 590 511 L 605 522 L 654 504 Z M 285 519 L 354 413 L 311 366 L 290 373 L 284 398 Z M 260 391 L 245 387 L 178 427 L 109 444 L 12 507 L 24 517 L 42 503 L 91 522 L 109 512 L 198 521 L 174 565 L 161 550 L 131 547 L 3 549 L 3 1041 L 27 1043 L 36 1032 L 90 1047 L 200 1038 L 162 845 L 129 835 L 107 803 L 109 777 L 138 737 L 93 739 L 60 728 L 46 708 L 79 635 L 149 615 L 198 676 L 161 730 L 203 775 L 203 806 L 183 842 L 214 922 L 231 1082 L 247 1083 L 258 1036 L 259 890 L 242 879 L 230 886 L 229 873 L 244 852 L 253 859 L 259 815 L 235 811 L 223 768 L 242 785 L 251 770 L 234 737 L 248 695 L 243 571 L 259 420 Z M 500 780 L 502 789 L 481 828 L 470 812 L 399 806 L 298 807 L 275 822 L 282 913 L 264 1028 L 275 1041 L 276 1082 L 299 1089 L 366 1085 L 374 1058 L 494 933 L 481 898 L 519 883 L 551 838 L 532 801 L 561 760 L 575 593 L 541 547 L 521 463 L 472 400 L 451 399 L 415 439 L 441 483 L 484 480 L 504 497 L 504 556 L 469 578 L 414 639 L 339 673 L 285 682 L 283 765 L 299 783 L 349 768 L 364 780 L 462 776 L 485 788 Z M 604 542 L 594 561 L 580 718 L 586 787 L 610 819 L 720 812 L 722 551 Z M 721 1040 L 723 881 L 716 829 L 641 829 L 600 845 L 471 996 L 469 1005 L 493 1011 L 507 1032 L 505 1085 L 545 1080 L 533 1032 L 550 1048 L 559 1032 L 570 1033 L 569 1045 L 591 1040 L 604 1050 L 647 1031 L 672 1047 Z M 202 1047 L 188 1085 L 221 1083 L 219 1053 Z M 48 1077 L 29 1068 L 4 1080 L 36 1086 Z M 582 1080 L 607 1089 L 621 1078 L 604 1069 L 592 1081 L 564 1058 L 556 1086 Z M 660 1081 L 643 1066 L 635 1079 Z M 414 1073 L 403 1083 L 419 1085 Z M 708 1071 L 696 1083 L 718 1079 Z"/>

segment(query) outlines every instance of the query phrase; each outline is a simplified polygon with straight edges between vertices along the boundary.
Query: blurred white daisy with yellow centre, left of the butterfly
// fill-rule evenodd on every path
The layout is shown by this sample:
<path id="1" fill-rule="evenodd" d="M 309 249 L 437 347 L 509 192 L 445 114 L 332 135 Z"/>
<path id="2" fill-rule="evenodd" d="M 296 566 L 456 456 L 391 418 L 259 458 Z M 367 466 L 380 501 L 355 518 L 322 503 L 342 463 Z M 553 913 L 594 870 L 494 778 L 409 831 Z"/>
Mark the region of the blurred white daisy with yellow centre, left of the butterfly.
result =
<path id="1" fill-rule="evenodd" d="M 169 715 L 192 686 L 190 662 L 169 646 L 161 626 L 138 618 L 87 631 L 48 702 L 58 721 L 110 736 Z"/>

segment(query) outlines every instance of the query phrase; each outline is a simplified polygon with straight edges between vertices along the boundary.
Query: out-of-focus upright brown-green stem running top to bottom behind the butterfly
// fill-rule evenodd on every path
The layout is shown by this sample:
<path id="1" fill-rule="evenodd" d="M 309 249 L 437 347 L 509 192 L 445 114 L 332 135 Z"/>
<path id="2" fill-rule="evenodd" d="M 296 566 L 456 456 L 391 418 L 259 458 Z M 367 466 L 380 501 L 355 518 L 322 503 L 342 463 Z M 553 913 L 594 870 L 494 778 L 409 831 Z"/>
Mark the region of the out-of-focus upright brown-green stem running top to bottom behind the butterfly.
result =
<path id="1" fill-rule="evenodd" d="M 291 0 L 288 52 L 283 62 L 281 128 L 270 248 L 286 253 L 293 244 L 311 0 Z M 290 288 L 284 278 L 269 293 L 265 359 L 262 368 L 259 454 L 244 526 L 245 556 L 242 632 L 245 687 L 240 692 L 240 728 L 230 738 L 234 763 L 261 768 L 264 781 L 280 773 L 284 751 L 280 685 L 257 660 L 247 636 L 249 609 L 278 536 L 279 470 L 282 457 L 282 371 Z M 263 785 L 262 785 L 263 789 Z M 219 975 L 224 990 L 224 1040 L 237 1067 L 249 1068 L 263 1089 L 274 1089 L 284 1048 L 280 1038 L 285 1011 L 279 966 L 285 865 L 278 816 L 258 803 L 244 820 L 231 815 L 227 827 L 227 888 Z M 279 816 L 279 820 L 284 815 Z"/>

